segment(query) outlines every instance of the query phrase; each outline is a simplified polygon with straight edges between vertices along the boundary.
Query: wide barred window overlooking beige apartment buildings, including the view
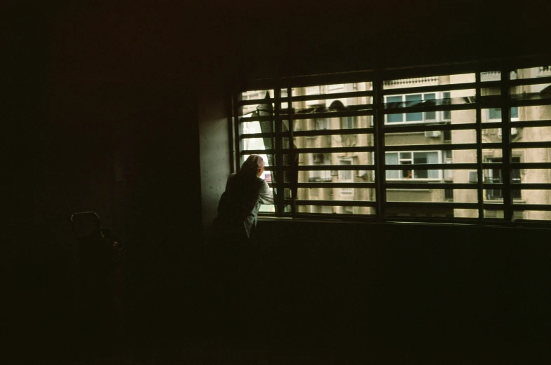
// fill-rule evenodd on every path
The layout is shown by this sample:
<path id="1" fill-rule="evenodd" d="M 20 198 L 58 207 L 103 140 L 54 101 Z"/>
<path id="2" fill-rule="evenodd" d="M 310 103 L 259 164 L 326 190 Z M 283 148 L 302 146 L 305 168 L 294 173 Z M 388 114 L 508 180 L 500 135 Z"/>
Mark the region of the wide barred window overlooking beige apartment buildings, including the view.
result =
<path id="1" fill-rule="evenodd" d="M 551 220 L 542 69 L 479 63 L 255 81 L 261 88 L 233 103 L 236 167 L 252 153 L 265 159 L 278 194 L 264 215 Z"/>

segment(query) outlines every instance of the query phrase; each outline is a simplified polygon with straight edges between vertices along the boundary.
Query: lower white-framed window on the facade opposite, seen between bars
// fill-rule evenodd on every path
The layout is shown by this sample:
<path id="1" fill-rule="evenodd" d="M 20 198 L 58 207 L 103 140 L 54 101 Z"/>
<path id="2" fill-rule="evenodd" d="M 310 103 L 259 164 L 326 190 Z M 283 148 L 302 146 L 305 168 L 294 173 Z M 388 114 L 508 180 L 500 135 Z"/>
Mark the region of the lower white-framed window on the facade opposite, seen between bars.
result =
<path id="1" fill-rule="evenodd" d="M 411 165 L 440 163 L 440 151 L 411 151 L 411 152 L 387 152 L 385 153 L 386 165 Z M 400 180 L 440 180 L 442 170 L 415 170 L 404 166 L 397 170 L 387 170 L 386 179 Z"/>

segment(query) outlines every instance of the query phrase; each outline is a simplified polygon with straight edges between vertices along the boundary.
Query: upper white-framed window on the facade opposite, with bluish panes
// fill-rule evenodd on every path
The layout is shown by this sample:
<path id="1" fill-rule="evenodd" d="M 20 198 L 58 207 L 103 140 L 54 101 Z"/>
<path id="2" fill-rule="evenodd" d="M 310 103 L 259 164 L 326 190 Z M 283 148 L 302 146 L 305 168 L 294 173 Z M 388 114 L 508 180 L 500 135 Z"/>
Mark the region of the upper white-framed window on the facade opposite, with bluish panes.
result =
<path id="1" fill-rule="evenodd" d="M 430 100 L 435 101 L 436 93 L 410 95 L 388 95 L 385 97 L 387 108 L 409 108 L 429 104 Z M 392 113 L 386 116 L 386 123 L 415 123 L 437 120 L 436 111 L 417 111 L 415 113 Z"/>

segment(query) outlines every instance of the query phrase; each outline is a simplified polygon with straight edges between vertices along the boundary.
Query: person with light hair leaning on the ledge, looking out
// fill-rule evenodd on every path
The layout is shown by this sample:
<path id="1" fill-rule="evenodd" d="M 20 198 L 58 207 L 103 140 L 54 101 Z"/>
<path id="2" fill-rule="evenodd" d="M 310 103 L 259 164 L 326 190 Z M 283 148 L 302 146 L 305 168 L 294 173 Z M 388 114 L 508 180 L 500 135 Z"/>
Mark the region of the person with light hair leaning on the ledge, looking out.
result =
<path id="1" fill-rule="evenodd" d="M 260 178 L 262 172 L 264 159 L 250 155 L 239 172 L 229 176 L 213 222 L 217 240 L 246 244 L 254 236 L 260 205 L 273 204 L 272 190 Z"/>

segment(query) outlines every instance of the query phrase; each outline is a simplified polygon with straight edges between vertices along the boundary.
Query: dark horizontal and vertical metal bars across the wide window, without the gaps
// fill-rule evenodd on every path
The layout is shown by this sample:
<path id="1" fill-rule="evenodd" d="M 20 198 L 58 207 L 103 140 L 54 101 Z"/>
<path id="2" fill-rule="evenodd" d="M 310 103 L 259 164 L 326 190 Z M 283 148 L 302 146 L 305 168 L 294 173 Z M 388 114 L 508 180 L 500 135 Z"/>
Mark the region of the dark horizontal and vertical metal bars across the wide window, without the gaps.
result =
<path id="1" fill-rule="evenodd" d="M 510 120 L 510 108 L 512 106 L 538 106 L 549 105 L 551 99 L 512 99 L 511 88 L 519 85 L 536 85 L 542 83 L 551 83 L 551 77 L 541 78 L 525 78 L 525 79 L 510 79 L 510 71 L 513 69 L 511 66 L 515 64 L 515 69 L 519 69 L 522 64 L 526 67 L 533 67 L 533 64 L 545 63 L 546 59 L 534 59 L 527 58 L 523 62 L 507 63 L 503 60 L 489 60 L 486 62 L 463 62 L 461 64 L 449 64 L 441 65 L 440 67 L 426 67 L 426 68 L 409 68 L 409 69 L 388 69 L 388 70 L 371 70 L 360 71 L 355 73 L 343 73 L 333 75 L 313 75 L 298 78 L 280 78 L 276 83 L 271 81 L 259 81 L 259 82 L 271 82 L 274 87 L 270 90 L 274 92 L 275 111 L 272 117 L 243 117 L 240 118 L 240 107 L 243 105 L 260 104 L 263 99 L 245 100 L 241 101 L 238 97 L 232 99 L 233 109 L 233 124 L 234 128 L 229 128 L 229 135 L 233 137 L 233 145 L 235 148 L 232 151 L 232 155 L 235 156 L 238 165 L 240 162 L 240 156 L 243 153 L 273 153 L 275 154 L 276 166 L 266 167 L 268 171 L 276 171 L 281 181 L 277 184 L 270 184 L 270 186 L 277 186 L 280 189 L 291 188 L 294 191 L 296 188 L 374 188 L 376 193 L 375 201 L 354 201 L 354 200 L 299 200 L 297 196 L 292 196 L 291 199 L 286 199 L 284 191 L 280 191 L 277 197 L 277 216 L 288 216 L 288 212 L 284 214 L 284 205 L 291 205 L 292 211 L 290 215 L 292 217 L 323 217 L 324 219 L 334 219 L 334 215 L 327 216 L 327 214 L 312 214 L 312 213 L 299 213 L 297 206 L 304 205 L 331 205 L 331 206 L 360 206 L 360 207 L 376 207 L 376 214 L 362 215 L 362 219 L 374 220 L 374 221 L 427 221 L 426 219 L 417 219 L 410 217 L 391 217 L 387 216 L 386 208 L 391 207 L 432 207 L 432 208 L 465 208 L 465 209 L 477 209 L 477 219 L 434 219 L 430 218 L 430 222 L 465 222 L 472 223 L 477 221 L 478 223 L 499 223 L 499 222 L 512 222 L 512 213 L 517 210 L 540 210 L 551 211 L 551 205 L 526 205 L 524 203 L 514 202 L 512 198 L 512 190 L 536 190 L 536 189 L 551 189 L 551 184 L 522 184 L 512 183 L 512 169 L 551 169 L 551 163 L 512 163 L 512 149 L 530 149 L 530 148 L 551 148 L 551 142 L 512 142 L 511 128 L 537 128 L 537 127 L 551 127 L 551 120 L 530 120 L 530 121 L 511 121 Z M 410 87 L 410 88 L 384 88 L 387 80 L 399 80 L 402 78 L 422 78 L 433 77 L 440 74 L 461 74 L 474 73 L 474 83 L 458 83 L 449 85 L 428 85 L 422 87 Z M 482 73 L 487 71 L 500 71 L 500 81 L 482 81 Z M 320 95 L 305 95 L 305 96 L 293 96 L 292 87 L 306 87 L 308 85 L 330 85 L 331 81 L 334 83 L 349 82 L 372 82 L 372 90 L 354 91 L 354 92 L 339 92 L 335 94 L 320 94 Z M 305 82 L 307 81 L 307 82 Z M 289 106 L 287 109 L 281 109 L 281 102 L 283 99 L 280 97 L 281 85 L 287 88 L 287 97 L 285 101 Z M 278 86 L 278 87 L 275 87 Z M 482 89 L 499 87 L 501 89 L 500 95 L 496 96 L 482 96 Z M 453 90 L 475 90 L 475 97 L 473 101 L 465 99 L 465 104 L 446 104 L 446 105 L 420 105 L 420 106 L 408 106 L 401 108 L 386 108 L 384 103 L 384 97 L 386 95 L 404 95 L 408 93 L 416 92 L 441 92 L 441 91 L 453 91 Z M 245 88 L 243 89 L 245 90 Z M 248 89 L 248 90 L 259 90 Z M 352 110 L 348 111 L 332 111 L 323 113 L 301 113 L 300 111 L 294 111 L 292 108 L 292 102 L 300 102 L 306 100 L 317 99 L 335 99 L 343 97 L 373 97 L 373 104 L 360 104 L 351 106 Z M 482 109 L 487 108 L 501 108 L 501 122 L 484 122 L 482 123 Z M 385 123 L 385 116 L 393 113 L 413 113 L 413 112 L 426 112 L 426 111 L 459 111 L 459 110 L 474 110 L 475 120 L 474 123 L 454 124 L 449 121 L 435 121 L 434 123 L 424 122 L 419 125 L 393 125 L 391 123 Z M 294 131 L 293 120 L 297 119 L 315 119 L 315 118 L 341 118 L 346 116 L 373 116 L 373 128 L 356 128 L 351 130 L 311 130 L 311 131 Z M 275 132 L 257 133 L 252 135 L 243 135 L 239 125 L 249 121 L 259 120 L 274 120 Z M 289 120 L 289 132 L 283 132 L 283 120 Z M 502 142 L 501 143 L 483 143 L 482 130 L 491 128 L 501 128 L 502 130 Z M 475 143 L 468 144 L 426 144 L 426 145 L 396 145 L 386 146 L 385 136 L 396 133 L 414 133 L 414 132 L 426 132 L 426 131 L 451 131 L 451 130 L 475 130 L 476 141 Z M 308 149 L 294 149 L 292 144 L 294 137 L 308 137 L 308 136 L 322 136 L 322 135 L 357 135 L 360 133 L 367 133 L 374 135 L 374 146 L 367 147 L 343 147 L 343 148 L 308 148 Z M 275 149 L 273 150 L 248 150 L 245 151 L 240 148 L 240 142 L 243 139 L 250 138 L 262 138 L 273 137 L 275 139 Z M 290 148 L 283 148 L 283 138 L 290 138 Z M 457 184 L 457 183 L 433 183 L 425 181 L 393 181 L 386 180 L 385 174 L 388 170 L 401 170 L 401 165 L 386 165 L 385 153 L 390 151 L 448 151 L 448 150 L 467 150 L 475 149 L 477 154 L 476 163 L 451 163 L 451 164 L 411 164 L 407 165 L 411 169 L 415 170 L 477 170 L 476 184 Z M 503 163 L 485 163 L 483 160 L 484 149 L 501 149 L 503 156 Z M 290 158 L 293 158 L 294 153 L 343 153 L 343 152 L 366 152 L 375 153 L 377 156 L 374 159 L 374 165 L 301 165 L 297 167 L 298 171 L 320 171 L 320 170 L 371 170 L 375 172 L 376 179 L 372 183 L 285 183 L 283 181 L 284 172 L 295 171 L 290 166 L 283 166 L 283 154 L 289 153 Z M 232 158 L 233 158 L 232 156 Z M 352 167 L 352 168 L 351 168 Z M 238 166 L 237 166 L 238 168 Z M 487 183 L 484 182 L 484 170 L 491 168 L 501 168 L 503 183 Z M 477 202 L 473 203 L 457 203 L 457 202 L 388 202 L 386 201 L 386 191 L 388 189 L 470 189 L 477 191 Z M 503 201 L 498 200 L 496 202 L 484 201 L 484 189 L 501 189 L 503 190 Z M 503 219 L 487 219 L 484 218 L 484 209 L 503 209 Z M 358 219 L 358 214 L 338 214 L 339 219 Z"/>

